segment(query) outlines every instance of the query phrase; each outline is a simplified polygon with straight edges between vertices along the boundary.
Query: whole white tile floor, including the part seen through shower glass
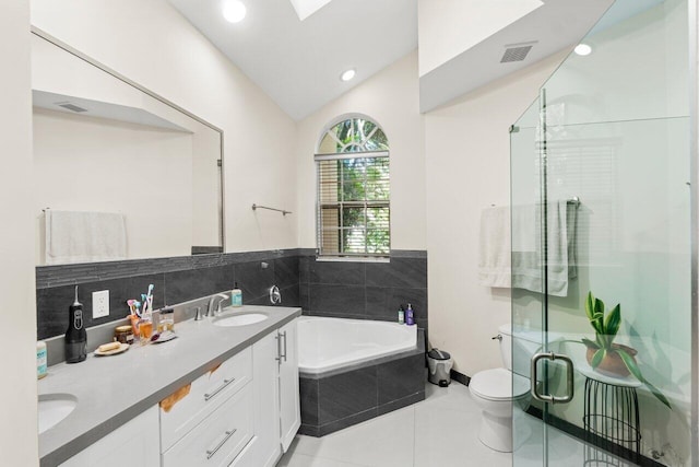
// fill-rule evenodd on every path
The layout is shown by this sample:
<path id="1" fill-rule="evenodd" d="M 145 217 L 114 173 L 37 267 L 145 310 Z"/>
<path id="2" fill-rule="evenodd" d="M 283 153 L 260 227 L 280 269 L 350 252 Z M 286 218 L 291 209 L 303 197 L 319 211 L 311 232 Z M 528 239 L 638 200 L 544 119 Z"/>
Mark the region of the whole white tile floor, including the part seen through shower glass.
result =
<path id="1" fill-rule="evenodd" d="M 542 467 L 542 423 L 522 412 L 519 417 L 512 463 L 512 454 L 478 441 L 481 411 L 466 386 L 427 383 L 424 401 L 323 437 L 297 435 L 277 467 Z M 552 428 L 547 436 L 552 467 L 635 465 L 612 457 L 591 464 L 599 454 L 584 443 Z"/>

